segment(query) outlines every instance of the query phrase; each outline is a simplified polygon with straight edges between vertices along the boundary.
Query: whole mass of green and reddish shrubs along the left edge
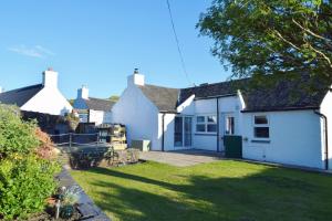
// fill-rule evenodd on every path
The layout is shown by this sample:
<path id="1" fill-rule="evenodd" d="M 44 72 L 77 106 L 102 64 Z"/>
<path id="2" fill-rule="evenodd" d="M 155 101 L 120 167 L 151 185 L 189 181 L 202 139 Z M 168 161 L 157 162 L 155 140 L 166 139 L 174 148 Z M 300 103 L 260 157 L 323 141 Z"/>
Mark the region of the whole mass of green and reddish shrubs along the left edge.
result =
<path id="1" fill-rule="evenodd" d="M 0 104 L 0 220 L 24 219 L 44 209 L 60 171 L 52 151 L 35 122 L 23 122 L 17 107 Z"/>

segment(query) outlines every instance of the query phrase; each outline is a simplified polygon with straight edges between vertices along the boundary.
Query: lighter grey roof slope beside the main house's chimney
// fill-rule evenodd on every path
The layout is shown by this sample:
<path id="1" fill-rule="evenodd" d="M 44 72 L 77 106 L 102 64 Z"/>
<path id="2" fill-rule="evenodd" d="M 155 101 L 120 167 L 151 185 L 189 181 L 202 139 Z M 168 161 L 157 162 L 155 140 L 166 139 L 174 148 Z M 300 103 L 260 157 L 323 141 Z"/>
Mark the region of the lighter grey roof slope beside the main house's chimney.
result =
<path id="1" fill-rule="evenodd" d="M 145 84 L 138 86 L 143 94 L 154 103 L 159 112 L 175 112 L 179 90 Z"/>

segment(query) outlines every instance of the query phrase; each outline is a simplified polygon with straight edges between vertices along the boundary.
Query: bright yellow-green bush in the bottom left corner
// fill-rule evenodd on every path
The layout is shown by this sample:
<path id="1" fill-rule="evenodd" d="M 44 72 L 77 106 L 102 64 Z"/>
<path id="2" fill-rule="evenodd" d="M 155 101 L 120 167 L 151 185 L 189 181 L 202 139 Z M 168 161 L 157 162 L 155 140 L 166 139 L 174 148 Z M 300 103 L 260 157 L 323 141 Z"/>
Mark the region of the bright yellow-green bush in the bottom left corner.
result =
<path id="1" fill-rule="evenodd" d="M 0 217 L 25 218 L 44 209 L 45 199 L 54 193 L 58 164 L 38 156 L 14 154 L 0 161 Z"/>

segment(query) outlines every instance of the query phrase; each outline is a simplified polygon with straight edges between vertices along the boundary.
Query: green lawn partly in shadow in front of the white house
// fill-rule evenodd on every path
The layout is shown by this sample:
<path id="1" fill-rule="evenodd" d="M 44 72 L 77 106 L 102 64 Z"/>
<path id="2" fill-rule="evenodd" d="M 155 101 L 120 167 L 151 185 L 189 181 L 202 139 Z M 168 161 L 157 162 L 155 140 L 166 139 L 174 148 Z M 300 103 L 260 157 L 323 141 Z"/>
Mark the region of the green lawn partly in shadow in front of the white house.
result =
<path id="1" fill-rule="evenodd" d="M 332 220 L 332 176 L 221 160 L 74 170 L 112 220 Z"/>

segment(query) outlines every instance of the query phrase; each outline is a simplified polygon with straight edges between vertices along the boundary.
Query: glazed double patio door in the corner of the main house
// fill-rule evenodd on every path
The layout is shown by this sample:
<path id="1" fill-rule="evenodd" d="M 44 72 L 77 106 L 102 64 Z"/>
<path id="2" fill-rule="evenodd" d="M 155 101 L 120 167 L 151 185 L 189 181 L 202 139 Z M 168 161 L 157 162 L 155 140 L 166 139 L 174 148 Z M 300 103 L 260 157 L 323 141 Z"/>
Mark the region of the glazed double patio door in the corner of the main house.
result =
<path id="1" fill-rule="evenodd" d="M 191 148 L 193 145 L 193 118 L 177 116 L 174 119 L 174 147 L 176 149 Z"/>

